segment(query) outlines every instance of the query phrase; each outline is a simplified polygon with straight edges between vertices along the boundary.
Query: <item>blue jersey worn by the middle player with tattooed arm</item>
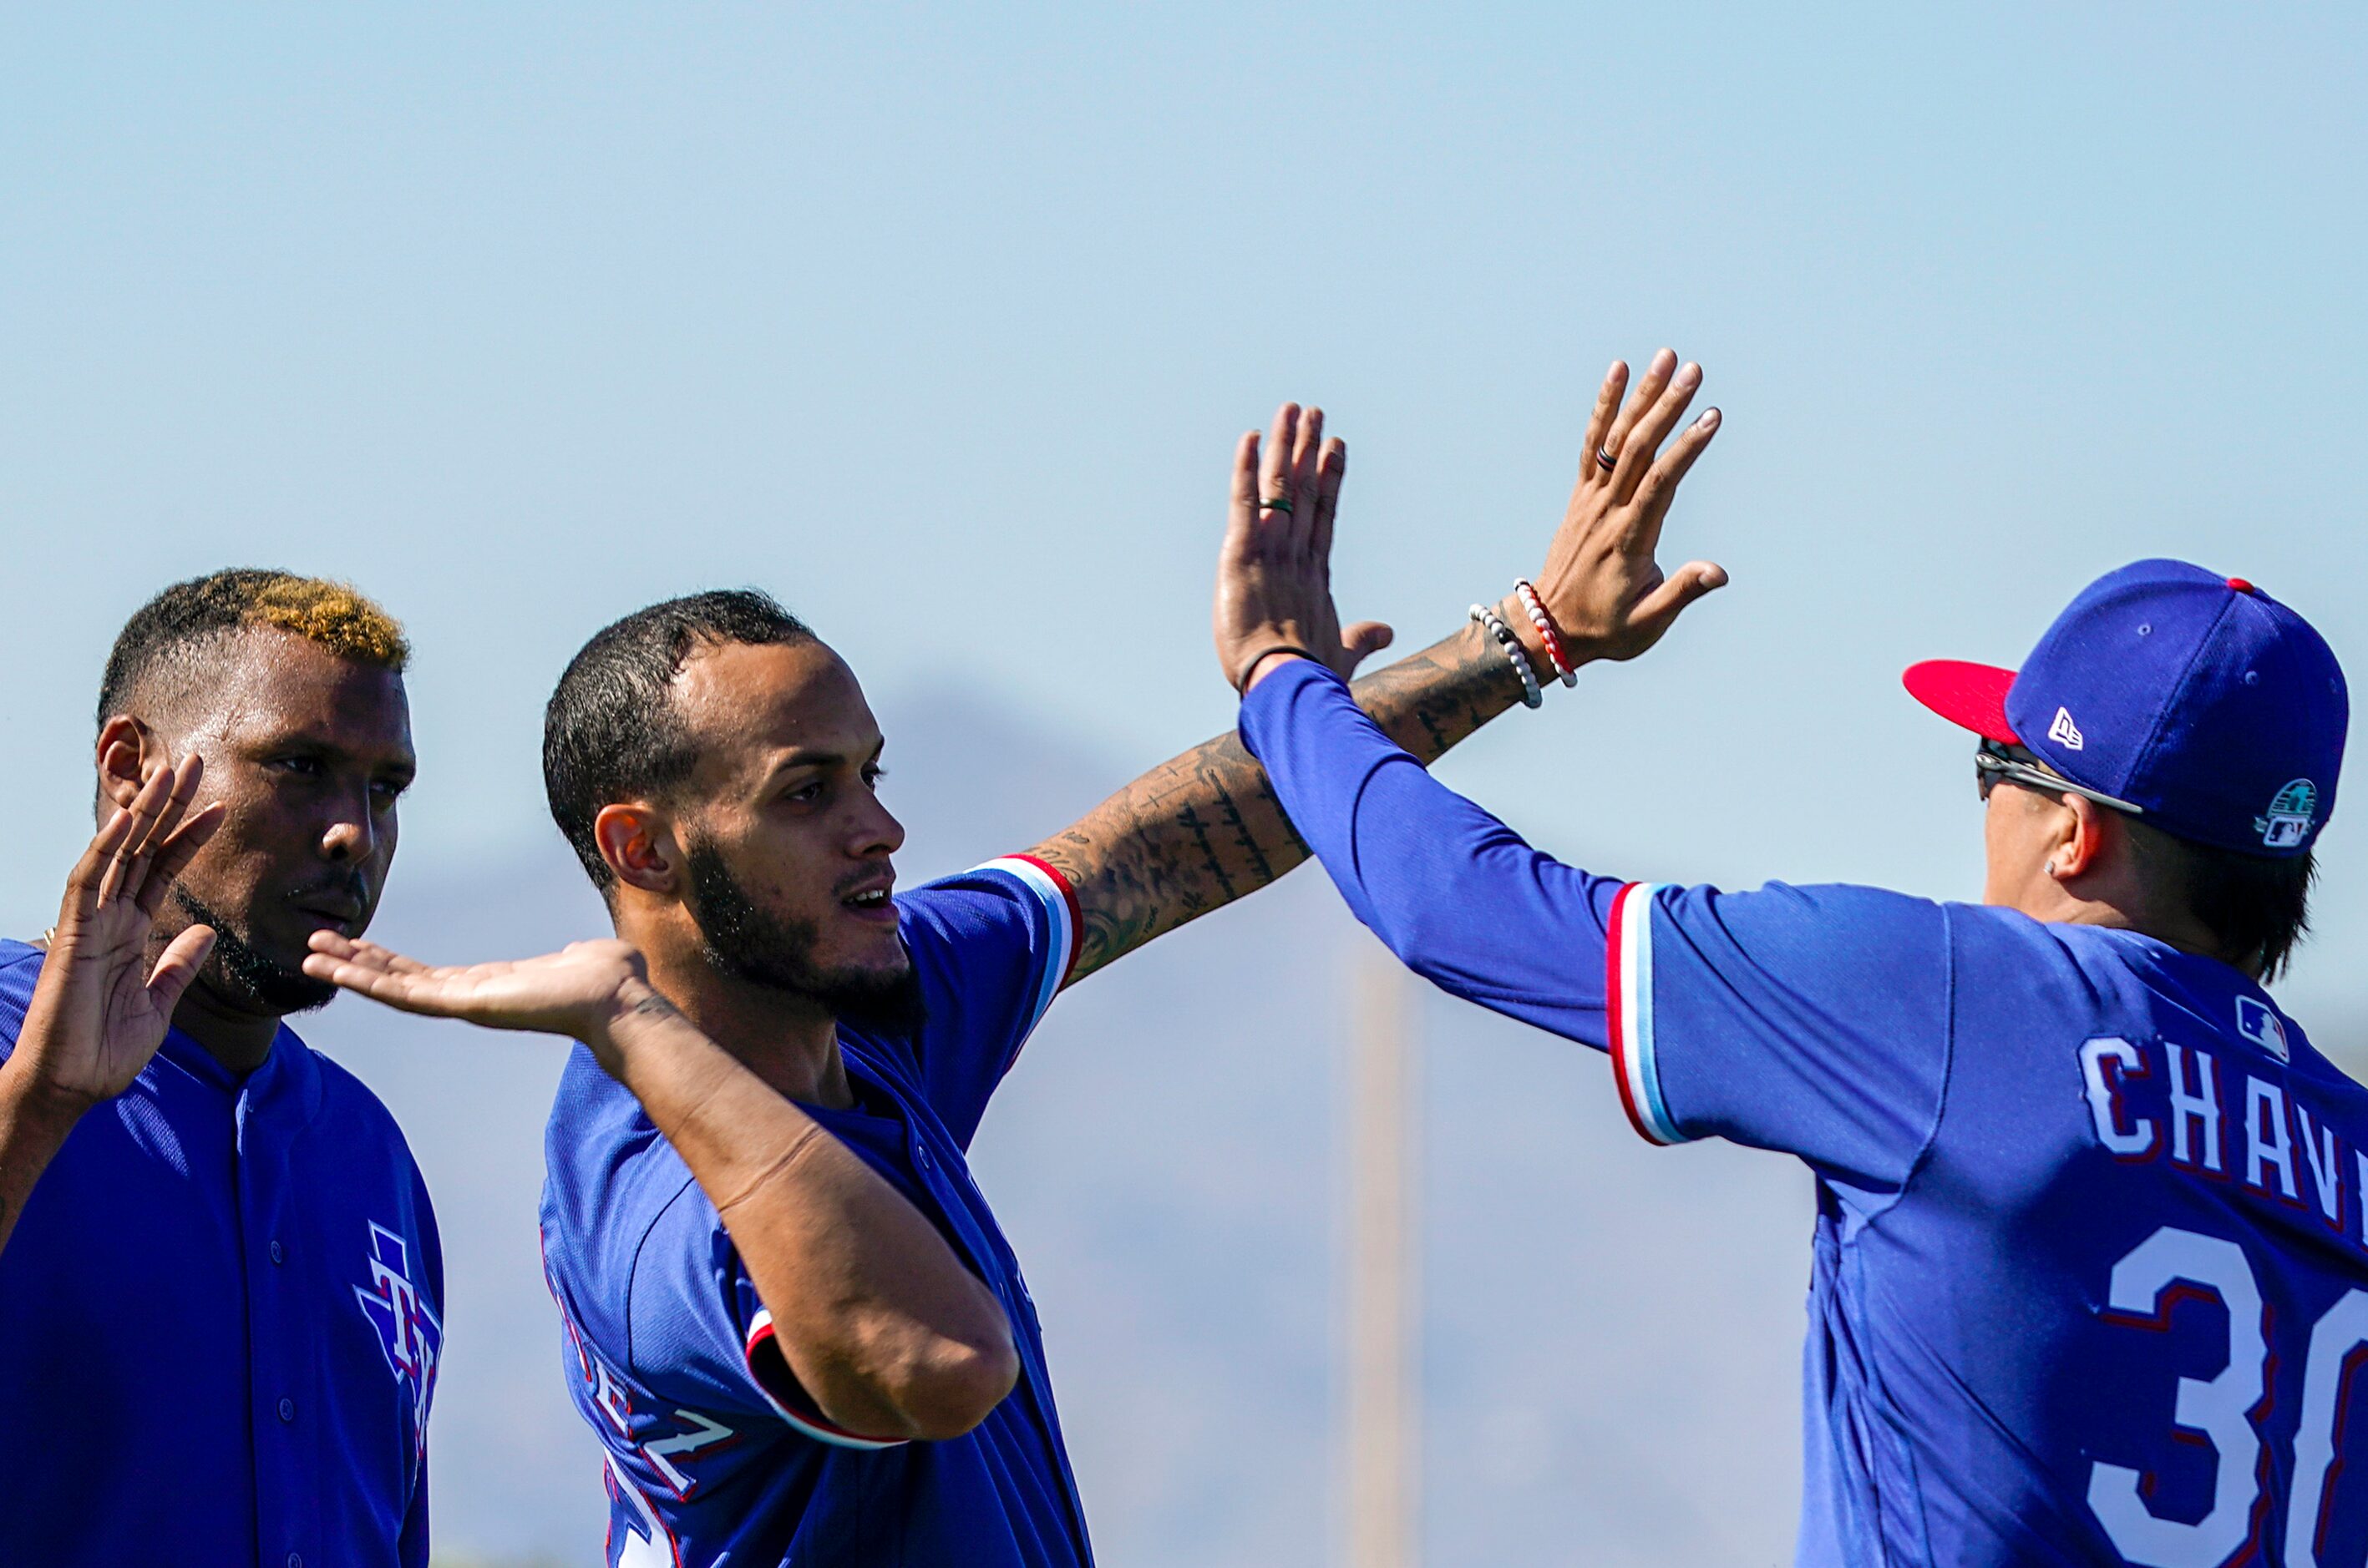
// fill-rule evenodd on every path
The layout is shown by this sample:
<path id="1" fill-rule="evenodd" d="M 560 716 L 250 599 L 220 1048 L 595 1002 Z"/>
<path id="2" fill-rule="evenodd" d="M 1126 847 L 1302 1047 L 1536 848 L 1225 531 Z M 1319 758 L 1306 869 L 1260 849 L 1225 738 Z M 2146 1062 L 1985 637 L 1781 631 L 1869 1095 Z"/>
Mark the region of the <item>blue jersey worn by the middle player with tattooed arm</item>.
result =
<path id="1" fill-rule="evenodd" d="M 1077 914 L 1035 860 L 897 898 L 926 1023 L 841 1026 L 855 1106 L 803 1106 L 928 1215 L 1011 1317 L 1018 1386 L 950 1442 L 831 1426 L 789 1374 L 732 1232 L 632 1094 L 575 1047 L 542 1248 L 561 1374 L 606 1450 L 609 1568 L 1087 1568 L 1044 1338 L 964 1151 L 1068 976 Z"/>

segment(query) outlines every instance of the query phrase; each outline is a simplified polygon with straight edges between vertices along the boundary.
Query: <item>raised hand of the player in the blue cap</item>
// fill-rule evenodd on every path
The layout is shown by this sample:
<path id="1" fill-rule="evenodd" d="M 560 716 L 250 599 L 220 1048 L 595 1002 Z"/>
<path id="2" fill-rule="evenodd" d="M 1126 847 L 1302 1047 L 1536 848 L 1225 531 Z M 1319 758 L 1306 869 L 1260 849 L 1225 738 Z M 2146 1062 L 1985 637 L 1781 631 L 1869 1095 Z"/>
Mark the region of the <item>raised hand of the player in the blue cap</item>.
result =
<path id="1" fill-rule="evenodd" d="M 1257 431 L 1234 448 L 1234 509 L 1217 552 L 1217 663 L 1236 692 L 1272 663 L 1305 654 L 1350 675 L 1390 647 L 1390 628 L 1340 630 L 1331 599 L 1331 533 L 1347 445 L 1324 441 L 1324 410 L 1286 403 L 1260 452 Z"/>

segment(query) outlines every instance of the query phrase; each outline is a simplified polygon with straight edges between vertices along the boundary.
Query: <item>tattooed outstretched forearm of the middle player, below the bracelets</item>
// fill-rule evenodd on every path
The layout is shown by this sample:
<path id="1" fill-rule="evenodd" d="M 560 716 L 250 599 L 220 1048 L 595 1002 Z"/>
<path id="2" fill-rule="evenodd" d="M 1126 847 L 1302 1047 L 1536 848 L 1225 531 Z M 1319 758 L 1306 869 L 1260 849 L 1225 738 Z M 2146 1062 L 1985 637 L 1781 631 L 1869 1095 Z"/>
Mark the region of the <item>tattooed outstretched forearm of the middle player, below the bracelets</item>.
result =
<path id="1" fill-rule="evenodd" d="M 1518 703 L 1520 677 L 1478 625 L 1466 625 L 1352 692 L 1428 765 Z M 1307 860 L 1267 770 L 1234 734 L 1160 763 L 1030 853 L 1077 891 L 1085 931 L 1070 981 Z"/>

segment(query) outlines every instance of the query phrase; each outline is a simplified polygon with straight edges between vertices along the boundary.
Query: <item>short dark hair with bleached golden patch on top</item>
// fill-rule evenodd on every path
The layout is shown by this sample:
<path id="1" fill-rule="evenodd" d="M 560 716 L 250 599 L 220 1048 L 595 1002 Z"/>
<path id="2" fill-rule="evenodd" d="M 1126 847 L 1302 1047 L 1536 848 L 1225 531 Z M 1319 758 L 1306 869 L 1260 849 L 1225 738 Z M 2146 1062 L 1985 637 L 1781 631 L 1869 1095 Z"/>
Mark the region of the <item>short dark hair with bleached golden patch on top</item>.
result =
<path id="1" fill-rule="evenodd" d="M 99 677 L 99 725 L 123 713 L 149 675 L 185 661 L 197 644 L 246 628 L 277 628 L 339 658 L 403 673 L 412 644 L 403 628 L 348 583 L 301 578 L 265 566 L 230 566 L 175 583 L 133 611 Z"/>

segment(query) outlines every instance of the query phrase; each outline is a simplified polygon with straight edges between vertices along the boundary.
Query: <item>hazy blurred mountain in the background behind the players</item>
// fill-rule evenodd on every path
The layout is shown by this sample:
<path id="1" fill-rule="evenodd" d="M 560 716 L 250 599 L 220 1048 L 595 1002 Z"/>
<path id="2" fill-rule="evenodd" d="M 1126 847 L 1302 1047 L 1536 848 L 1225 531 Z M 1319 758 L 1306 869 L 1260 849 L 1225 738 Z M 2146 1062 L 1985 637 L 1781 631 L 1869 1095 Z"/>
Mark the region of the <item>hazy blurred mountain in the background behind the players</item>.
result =
<path id="1" fill-rule="evenodd" d="M 881 713 L 907 886 L 1044 838 L 1153 760 L 973 692 Z M 377 936 L 474 959 L 604 928 L 554 834 L 398 874 Z M 1364 945 L 1302 869 L 1066 995 L 980 1130 L 1106 1563 L 1338 1561 L 1340 1106 Z M 1785 1561 L 1807 1177 L 1648 1149 L 1594 1052 L 1437 995 L 1421 1023 L 1428 1561 Z M 305 1035 L 393 1106 L 436 1194 L 440 1554 L 597 1561 L 599 1454 L 561 1388 L 535 1244 L 564 1047 L 353 1000 Z"/>

